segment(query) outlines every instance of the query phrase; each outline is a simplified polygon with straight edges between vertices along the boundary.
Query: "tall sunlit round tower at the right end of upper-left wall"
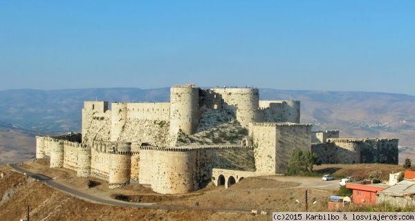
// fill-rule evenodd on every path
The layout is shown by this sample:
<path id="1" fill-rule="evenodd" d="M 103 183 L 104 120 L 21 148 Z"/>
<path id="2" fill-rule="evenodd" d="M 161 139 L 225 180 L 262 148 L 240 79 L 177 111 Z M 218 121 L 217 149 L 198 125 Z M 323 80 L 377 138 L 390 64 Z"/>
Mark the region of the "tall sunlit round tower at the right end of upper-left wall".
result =
<path id="1" fill-rule="evenodd" d="M 170 135 L 181 129 L 187 135 L 199 126 L 199 88 L 195 84 L 170 88 Z"/>

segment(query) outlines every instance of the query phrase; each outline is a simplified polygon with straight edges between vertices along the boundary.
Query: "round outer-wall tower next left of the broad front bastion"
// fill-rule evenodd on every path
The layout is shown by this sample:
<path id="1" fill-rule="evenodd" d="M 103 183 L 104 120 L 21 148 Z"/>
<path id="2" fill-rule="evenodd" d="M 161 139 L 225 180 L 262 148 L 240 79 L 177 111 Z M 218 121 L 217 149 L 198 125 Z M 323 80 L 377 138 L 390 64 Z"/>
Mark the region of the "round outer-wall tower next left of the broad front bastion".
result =
<path id="1" fill-rule="evenodd" d="M 113 142 L 109 152 L 109 188 L 114 189 L 129 184 L 131 177 L 131 143 Z"/>

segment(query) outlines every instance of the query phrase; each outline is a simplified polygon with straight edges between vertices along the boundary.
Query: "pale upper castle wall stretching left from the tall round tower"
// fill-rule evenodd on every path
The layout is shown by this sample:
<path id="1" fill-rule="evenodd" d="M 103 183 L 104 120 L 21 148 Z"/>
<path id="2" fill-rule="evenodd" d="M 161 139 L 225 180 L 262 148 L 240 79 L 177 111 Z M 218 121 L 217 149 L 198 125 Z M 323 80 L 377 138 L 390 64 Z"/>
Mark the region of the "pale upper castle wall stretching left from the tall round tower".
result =
<path id="1" fill-rule="evenodd" d="M 154 146 L 168 144 L 169 103 L 112 105 L 114 109 L 105 113 L 82 110 L 83 142 L 92 145 L 95 141 L 124 140 L 149 142 Z"/>

